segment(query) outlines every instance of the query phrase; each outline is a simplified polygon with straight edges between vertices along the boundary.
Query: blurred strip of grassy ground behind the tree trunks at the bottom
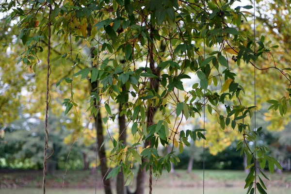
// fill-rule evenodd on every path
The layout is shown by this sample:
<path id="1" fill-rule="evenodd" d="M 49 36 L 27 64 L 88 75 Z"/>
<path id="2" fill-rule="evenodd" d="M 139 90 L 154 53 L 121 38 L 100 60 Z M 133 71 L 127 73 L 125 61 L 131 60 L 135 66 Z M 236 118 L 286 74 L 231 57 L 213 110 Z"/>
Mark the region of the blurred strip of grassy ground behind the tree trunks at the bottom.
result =
<path id="1" fill-rule="evenodd" d="M 4 188 L 41 188 L 42 171 L 7 171 L 0 170 L 0 189 Z M 55 174 L 47 176 L 47 188 L 62 188 L 64 171 L 56 171 Z M 265 180 L 267 187 L 291 188 L 291 172 L 284 172 L 282 175 L 266 172 L 270 181 Z M 206 170 L 206 187 L 241 187 L 244 186 L 246 174 L 243 171 L 227 170 Z M 262 178 L 262 177 L 261 177 Z M 102 188 L 102 178 L 98 173 L 97 187 Z M 264 179 L 264 178 L 262 178 Z M 68 171 L 65 177 L 64 188 L 87 189 L 95 188 L 95 175 L 90 171 Z M 186 173 L 184 170 L 176 170 L 174 174 L 166 171 L 162 177 L 153 177 L 153 184 L 159 188 L 200 188 L 203 185 L 203 171 L 194 170 Z M 113 185 L 114 182 L 113 182 Z M 134 184 L 133 184 L 134 185 Z"/>

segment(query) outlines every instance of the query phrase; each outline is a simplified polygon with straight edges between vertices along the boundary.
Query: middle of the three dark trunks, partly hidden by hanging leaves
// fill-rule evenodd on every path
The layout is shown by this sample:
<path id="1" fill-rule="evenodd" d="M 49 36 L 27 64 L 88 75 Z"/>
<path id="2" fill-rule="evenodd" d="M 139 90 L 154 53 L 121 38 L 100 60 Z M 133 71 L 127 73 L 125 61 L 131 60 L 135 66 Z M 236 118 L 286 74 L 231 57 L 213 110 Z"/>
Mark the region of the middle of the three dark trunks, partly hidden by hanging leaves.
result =
<path id="1" fill-rule="evenodd" d="M 119 104 L 119 113 L 122 111 L 122 105 Z M 125 115 L 118 116 L 118 124 L 119 124 L 119 140 L 123 141 L 123 144 L 126 145 L 126 121 Z M 124 187 L 124 176 L 123 171 L 120 171 L 117 174 L 116 180 L 116 192 L 117 194 L 125 194 L 125 187 Z"/>

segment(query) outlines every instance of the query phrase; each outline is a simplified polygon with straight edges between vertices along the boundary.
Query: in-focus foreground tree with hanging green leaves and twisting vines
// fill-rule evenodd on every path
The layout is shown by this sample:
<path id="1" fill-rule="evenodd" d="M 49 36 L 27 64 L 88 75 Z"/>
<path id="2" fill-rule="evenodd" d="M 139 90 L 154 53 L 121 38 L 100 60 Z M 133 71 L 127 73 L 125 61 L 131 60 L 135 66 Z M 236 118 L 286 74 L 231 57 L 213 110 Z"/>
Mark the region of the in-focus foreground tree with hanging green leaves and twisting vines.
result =
<path id="1" fill-rule="evenodd" d="M 133 179 L 131 167 L 133 163 L 138 162 L 141 169 L 145 169 L 138 173 L 138 187 L 135 193 L 144 193 L 145 171 L 149 171 L 151 193 L 152 174 L 159 177 L 163 168 L 171 170 L 170 162 L 178 163 L 178 157 L 173 152 L 174 146 L 179 146 L 182 150 L 184 145 L 190 146 L 188 138 L 194 141 L 197 137 L 206 140 L 204 127 L 180 130 L 180 126 L 184 119 L 190 121 L 195 116 L 201 116 L 205 120 L 204 112 L 207 108 L 208 112 L 217 118 L 221 129 L 229 126 L 238 129 L 242 134 L 238 149 L 247 156 L 250 168 L 245 188 L 249 188 L 251 193 L 256 188 L 260 193 L 264 193 L 264 184 L 256 179 L 257 169 L 263 168 L 266 160 L 271 172 L 274 171 L 274 165 L 278 168 L 281 166 L 267 155 L 266 146 L 251 148 L 248 145 L 249 142 L 256 141 L 262 128 L 254 131 L 247 123 L 246 117 L 252 117 L 256 103 L 255 106 L 243 104 L 240 100 L 245 97 L 242 95 L 244 84 L 237 79 L 234 66 L 242 64 L 247 69 L 257 69 L 256 71 L 275 69 L 284 78 L 283 82 L 286 85 L 290 83 L 291 78 L 286 73 L 288 69 L 273 65 L 260 68 L 256 64 L 260 56 L 270 56 L 270 51 L 276 47 L 270 47 L 264 36 L 255 41 L 247 29 L 240 29 L 242 18 L 246 19 L 245 14 L 249 13 L 243 10 L 251 9 L 252 6 L 238 6 L 232 9 L 234 1 L 163 0 L 161 3 L 156 0 L 38 0 L 10 1 L 1 6 L 5 12 L 11 10 L 10 16 L 6 17 L 7 22 L 18 17 L 20 20 L 18 26 L 21 31 L 17 37 L 22 41 L 25 50 L 18 63 L 34 69 L 33 61 L 38 59 L 38 53 L 43 51 L 41 46 L 47 46 L 49 83 L 52 52 L 50 49 L 55 49 L 50 48 L 51 38 L 55 36 L 59 39 L 60 44 L 57 48 L 62 49 L 64 53 L 52 61 L 61 58 L 66 61 L 67 56 L 70 56 L 72 68 L 63 68 L 69 76 L 62 79 L 70 88 L 70 98 L 64 99 L 65 114 L 72 113 L 72 108 L 77 107 L 79 103 L 76 97 L 78 93 L 73 92 L 77 90 L 73 83 L 77 82 L 74 77 L 81 75 L 81 80 L 90 77 L 89 81 L 96 83 L 92 84 L 87 104 L 90 106 L 91 118 L 98 115 L 100 122 L 102 120 L 107 126 L 108 122 L 114 121 L 117 114 L 120 117 L 126 116 L 132 135 L 138 140 L 133 145 L 125 145 L 119 139 L 110 137 L 113 149 L 109 160 L 116 164 L 116 167 L 107 175 L 106 180 L 115 177 L 122 169 L 126 178 L 125 185 L 129 185 Z M 87 32 L 88 26 L 92 27 L 90 33 Z M 160 49 L 159 45 L 163 41 L 165 49 Z M 88 48 L 91 47 L 90 44 L 96 45 L 94 58 L 82 59 L 81 52 L 72 49 L 73 45 L 78 44 Z M 233 55 L 232 61 L 230 54 Z M 118 63 L 120 56 L 124 57 L 125 63 Z M 81 60 L 85 63 L 81 63 Z M 91 66 L 86 64 L 87 60 L 92 60 Z M 80 66 L 81 70 L 75 73 L 75 66 Z M 53 75 L 53 71 L 51 73 Z M 186 87 L 184 84 L 185 79 L 191 79 L 188 74 L 196 78 L 193 82 L 188 82 L 192 87 Z M 60 82 L 57 85 L 59 84 Z M 49 84 L 46 93 L 47 112 L 48 86 Z M 217 92 L 216 87 L 221 87 L 220 92 Z M 119 103 L 122 108 L 113 110 L 109 106 L 111 101 Z M 288 102 L 289 91 L 280 100 L 269 101 L 273 104 L 271 108 L 279 109 L 282 116 L 287 113 Z M 104 107 L 107 112 L 102 119 L 100 107 Z M 154 117 L 155 113 L 160 116 L 157 116 L 157 120 Z M 174 119 L 170 119 L 172 117 Z M 97 122 L 97 125 L 100 122 Z M 104 141 L 102 125 L 98 126 L 98 129 L 100 149 Z M 207 133 L 207 136 L 211 137 L 211 133 Z M 170 143 L 173 145 L 172 151 L 164 157 L 160 156 L 158 147 L 167 147 Z M 45 153 L 47 149 L 49 146 L 46 141 Z M 100 157 L 102 160 L 105 158 L 107 157 Z M 45 164 L 46 160 L 45 154 Z M 260 166 L 256 165 L 257 161 Z M 107 166 L 101 168 L 105 172 Z M 46 165 L 44 169 L 46 170 Z M 265 177 L 263 172 L 261 174 Z M 110 191 L 109 187 L 106 193 Z"/>

